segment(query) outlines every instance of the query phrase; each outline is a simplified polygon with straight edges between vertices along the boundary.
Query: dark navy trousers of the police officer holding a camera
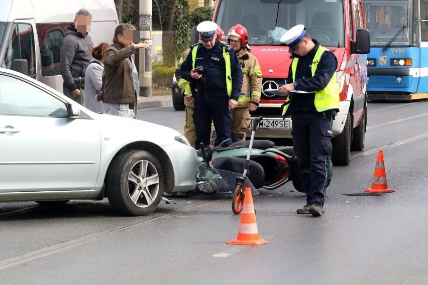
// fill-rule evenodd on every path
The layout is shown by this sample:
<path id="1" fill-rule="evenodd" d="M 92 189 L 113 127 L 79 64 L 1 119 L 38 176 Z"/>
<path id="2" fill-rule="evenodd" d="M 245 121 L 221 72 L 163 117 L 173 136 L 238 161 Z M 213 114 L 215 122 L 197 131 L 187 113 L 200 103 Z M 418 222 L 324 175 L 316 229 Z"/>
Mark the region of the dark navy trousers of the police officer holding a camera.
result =
<path id="1" fill-rule="evenodd" d="M 204 97 L 194 96 L 193 122 L 195 125 L 195 148 L 199 150 L 200 143 L 210 144 L 211 122 L 216 128 L 217 142 L 230 138 L 224 146 L 232 144 L 231 125 L 232 111 L 229 109 L 229 96 Z"/>

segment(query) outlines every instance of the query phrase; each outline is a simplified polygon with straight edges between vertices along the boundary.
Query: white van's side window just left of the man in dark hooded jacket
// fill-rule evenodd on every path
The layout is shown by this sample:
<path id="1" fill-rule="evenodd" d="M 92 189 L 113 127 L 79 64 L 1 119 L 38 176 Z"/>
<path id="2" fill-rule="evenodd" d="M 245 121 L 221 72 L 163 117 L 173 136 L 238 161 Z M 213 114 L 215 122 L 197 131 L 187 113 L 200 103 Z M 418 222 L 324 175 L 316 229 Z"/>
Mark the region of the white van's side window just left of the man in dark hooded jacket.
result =
<path id="1" fill-rule="evenodd" d="M 40 58 L 42 59 L 42 76 L 61 74 L 59 63 L 61 43 L 70 24 L 37 24 Z"/>

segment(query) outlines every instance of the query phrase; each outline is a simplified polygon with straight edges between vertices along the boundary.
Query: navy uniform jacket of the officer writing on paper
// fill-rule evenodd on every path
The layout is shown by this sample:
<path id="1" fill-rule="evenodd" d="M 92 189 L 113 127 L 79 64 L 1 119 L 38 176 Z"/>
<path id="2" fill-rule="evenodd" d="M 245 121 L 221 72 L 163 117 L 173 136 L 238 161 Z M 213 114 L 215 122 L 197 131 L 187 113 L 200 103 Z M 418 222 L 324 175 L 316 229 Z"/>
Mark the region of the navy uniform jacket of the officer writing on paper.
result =
<path id="1" fill-rule="evenodd" d="M 333 74 L 337 69 L 337 59 L 332 51 L 326 51 L 319 59 L 318 66 L 315 71 L 315 75 L 312 77 L 311 65 L 313 57 L 315 56 L 316 50 L 319 47 L 319 43 L 312 39 L 315 43 L 315 47 L 303 57 L 294 55 L 299 58 L 296 69 L 295 82 L 296 90 L 301 91 L 319 91 L 326 88 L 329 84 Z M 332 64 L 333 63 L 333 64 Z M 293 82 L 293 74 L 291 71 L 291 64 L 288 70 L 287 83 Z M 302 94 L 295 93 L 292 95 L 293 98 L 288 107 L 287 113 L 292 114 L 293 112 L 299 111 L 316 111 L 314 99 L 315 94 Z"/>

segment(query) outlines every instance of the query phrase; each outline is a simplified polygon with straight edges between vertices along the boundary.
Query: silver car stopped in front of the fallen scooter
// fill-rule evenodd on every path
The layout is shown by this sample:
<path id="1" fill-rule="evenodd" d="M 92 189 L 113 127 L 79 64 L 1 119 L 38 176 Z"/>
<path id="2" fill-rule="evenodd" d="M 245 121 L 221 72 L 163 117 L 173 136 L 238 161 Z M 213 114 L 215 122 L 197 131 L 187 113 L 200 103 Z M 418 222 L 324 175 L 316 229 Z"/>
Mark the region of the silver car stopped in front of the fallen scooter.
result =
<path id="1" fill-rule="evenodd" d="M 108 197 L 119 213 L 148 215 L 164 192 L 196 187 L 196 164 L 176 130 L 91 112 L 0 68 L 0 202 Z"/>

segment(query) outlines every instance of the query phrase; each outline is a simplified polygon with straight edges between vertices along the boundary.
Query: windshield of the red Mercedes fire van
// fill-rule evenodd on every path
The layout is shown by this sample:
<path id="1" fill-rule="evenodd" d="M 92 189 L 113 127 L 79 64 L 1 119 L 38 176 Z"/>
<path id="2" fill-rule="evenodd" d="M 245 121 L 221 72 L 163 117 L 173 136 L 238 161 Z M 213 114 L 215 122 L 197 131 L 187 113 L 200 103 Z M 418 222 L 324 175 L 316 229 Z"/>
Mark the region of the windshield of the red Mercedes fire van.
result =
<path id="1" fill-rule="evenodd" d="M 250 45 L 280 45 L 288 29 L 303 24 L 320 44 L 344 46 L 341 0 L 223 0 L 216 22 L 224 31 L 243 25 Z"/>

